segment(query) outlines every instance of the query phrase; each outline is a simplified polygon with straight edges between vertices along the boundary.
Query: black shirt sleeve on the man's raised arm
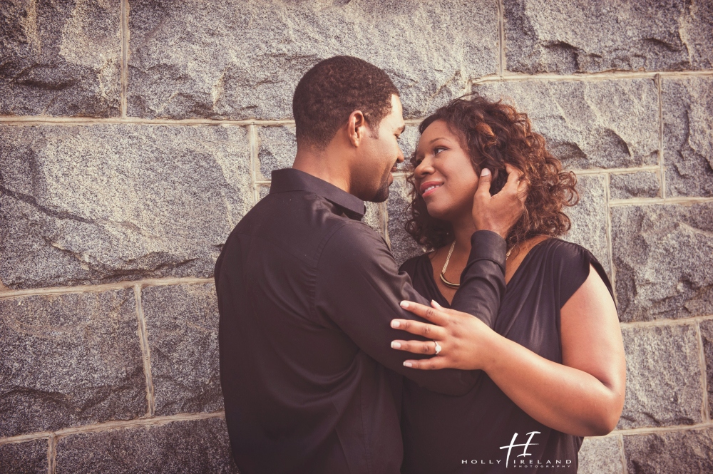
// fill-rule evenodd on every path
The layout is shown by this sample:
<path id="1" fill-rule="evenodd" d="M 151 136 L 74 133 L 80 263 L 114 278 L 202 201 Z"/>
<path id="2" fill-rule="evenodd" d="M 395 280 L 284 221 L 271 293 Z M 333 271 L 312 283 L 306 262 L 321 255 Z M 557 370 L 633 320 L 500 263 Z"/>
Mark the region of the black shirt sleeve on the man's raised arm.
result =
<path id="1" fill-rule="evenodd" d="M 461 277 L 464 284 L 457 293 L 461 294 L 460 307 L 497 314 L 505 290 L 504 264 L 498 262 L 504 262 L 505 241 L 501 248 L 491 235 L 483 236 L 482 241 L 480 235 L 475 239 L 478 246 L 471 249 L 463 270 L 465 279 Z M 411 286 L 409 275 L 399 273 L 389 247 L 376 232 L 359 222 L 349 222 L 329 237 L 317 262 L 314 316 L 332 321 L 366 354 L 420 386 L 448 395 L 467 393 L 480 371 L 409 369 L 404 366 L 406 359 L 424 356 L 391 349 L 391 341 L 406 339 L 404 331 L 391 328 L 391 319 L 424 321 L 402 309 L 403 300 L 430 305 Z"/>

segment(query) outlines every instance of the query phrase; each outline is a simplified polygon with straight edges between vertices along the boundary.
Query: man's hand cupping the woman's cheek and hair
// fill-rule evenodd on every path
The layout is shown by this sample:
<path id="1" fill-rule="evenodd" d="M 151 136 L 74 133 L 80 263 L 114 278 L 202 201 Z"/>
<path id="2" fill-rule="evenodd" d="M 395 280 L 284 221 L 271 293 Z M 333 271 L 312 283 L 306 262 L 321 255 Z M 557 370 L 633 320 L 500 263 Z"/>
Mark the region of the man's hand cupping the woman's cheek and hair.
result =
<path id="1" fill-rule="evenodd" d="M 473 223 L 476 230 L 491 230 L 505 239 L 515 222 L 525 210 L 528 197 L 528 182 L 521 180 L 522 172 L 511 165 L 505 165 L 508 182 L 498 194 L 490 195 L 493 176 L 488 168 L 483 168 L 478 189 L 473 197 Z"/>

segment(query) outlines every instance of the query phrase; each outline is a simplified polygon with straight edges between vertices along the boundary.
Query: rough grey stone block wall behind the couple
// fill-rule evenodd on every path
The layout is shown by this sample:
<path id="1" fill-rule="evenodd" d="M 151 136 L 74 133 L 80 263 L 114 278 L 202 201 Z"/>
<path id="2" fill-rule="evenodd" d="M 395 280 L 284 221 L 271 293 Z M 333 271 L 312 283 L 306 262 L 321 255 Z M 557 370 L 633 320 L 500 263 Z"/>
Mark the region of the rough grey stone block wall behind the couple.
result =
<path id="1" fill-rule="evenodd" d="M 0 473 L 237 472 L 212 269 L 337 54 L 393 78 L 406 155 L 467 91 L 528 112 L 627 354 L 580 472 L 713 472 L 712 25 L 706 0 L 2 2 Z M 366 220 L 403 261 L 397 175 Z"/>

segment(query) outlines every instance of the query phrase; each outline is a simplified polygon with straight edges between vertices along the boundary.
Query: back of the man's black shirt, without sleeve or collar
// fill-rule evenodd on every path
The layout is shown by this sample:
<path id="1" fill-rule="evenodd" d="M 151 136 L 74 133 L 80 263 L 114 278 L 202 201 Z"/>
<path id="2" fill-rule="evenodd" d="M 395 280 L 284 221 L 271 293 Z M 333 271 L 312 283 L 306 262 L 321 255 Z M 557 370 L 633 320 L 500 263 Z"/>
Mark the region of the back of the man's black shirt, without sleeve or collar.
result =
<path id="1" fill-rule="evenodd" d="M 226 418 L 246 473 L 399 471 L 388 371 L 315 307 L 324 245 L 345 225 L 374 233 L 344 212 L 310 192 L 271 192 L 216 264 Z M 383 452 L 369 453 L 374 446 Z"/>

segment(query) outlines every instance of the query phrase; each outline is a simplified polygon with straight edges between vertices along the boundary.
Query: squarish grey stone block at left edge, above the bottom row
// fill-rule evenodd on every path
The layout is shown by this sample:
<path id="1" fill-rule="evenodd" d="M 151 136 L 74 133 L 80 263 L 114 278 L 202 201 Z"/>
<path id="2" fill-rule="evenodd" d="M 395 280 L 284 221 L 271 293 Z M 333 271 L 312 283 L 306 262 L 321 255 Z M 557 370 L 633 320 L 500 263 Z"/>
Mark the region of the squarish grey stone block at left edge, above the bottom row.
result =
<path id="1" fill-rule="evenodd" d="M 146 413 L 134 292 L 0 300 L 0 438 Z"/>

